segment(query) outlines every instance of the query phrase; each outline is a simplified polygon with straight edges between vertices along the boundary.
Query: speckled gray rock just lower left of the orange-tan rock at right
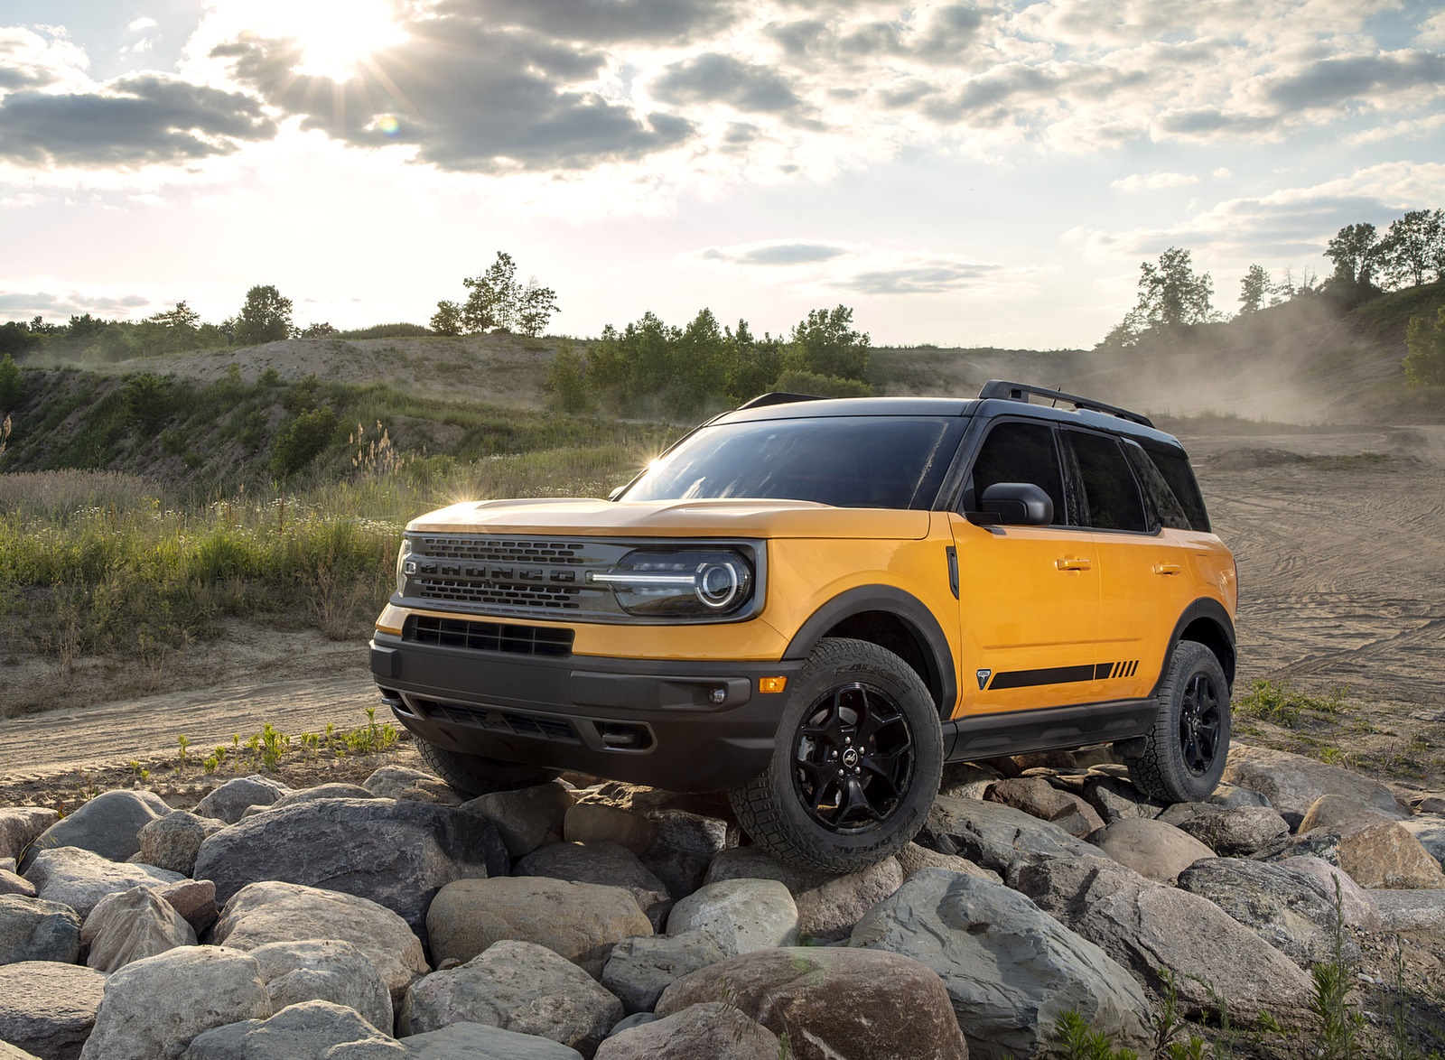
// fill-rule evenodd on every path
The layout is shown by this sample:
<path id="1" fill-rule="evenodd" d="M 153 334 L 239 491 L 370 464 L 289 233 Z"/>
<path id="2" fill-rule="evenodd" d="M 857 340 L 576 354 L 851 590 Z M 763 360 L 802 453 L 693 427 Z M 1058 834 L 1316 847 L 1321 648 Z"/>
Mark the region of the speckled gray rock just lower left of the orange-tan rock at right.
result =
<path id="1" fill-rule="evenodd" d="M 1334 905 L 1282 865 L 1205 858 L 1179 874 L 1179 890 L 1208 898 L 1302 968 L 1334 957 Z M 1360 953 L 1353 939 L 1348 950 Z"/>

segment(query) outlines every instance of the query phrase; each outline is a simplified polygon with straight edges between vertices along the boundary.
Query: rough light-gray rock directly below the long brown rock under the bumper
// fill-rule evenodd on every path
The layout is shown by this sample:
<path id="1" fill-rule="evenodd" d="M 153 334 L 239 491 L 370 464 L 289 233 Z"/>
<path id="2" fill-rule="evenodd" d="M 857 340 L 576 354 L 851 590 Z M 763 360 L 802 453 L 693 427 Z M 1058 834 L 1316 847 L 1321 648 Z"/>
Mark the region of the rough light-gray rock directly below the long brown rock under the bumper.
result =
<path id="1" fill-rule="evenodd" d="M 571 960 L 545 946 L 506 940 L 415 983 L 399 1024 L 403 1035 L 454 1022 L 490 1024 L 591 1057 L 621 1018 L 623 1004 Z"/>

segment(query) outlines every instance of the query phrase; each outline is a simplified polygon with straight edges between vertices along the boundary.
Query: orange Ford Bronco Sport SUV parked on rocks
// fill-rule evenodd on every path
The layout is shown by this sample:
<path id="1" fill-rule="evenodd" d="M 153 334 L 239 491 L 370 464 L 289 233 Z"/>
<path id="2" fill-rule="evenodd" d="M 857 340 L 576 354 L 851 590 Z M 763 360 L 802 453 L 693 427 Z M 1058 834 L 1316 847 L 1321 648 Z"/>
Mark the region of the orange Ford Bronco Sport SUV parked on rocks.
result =
<path id="1" fill-rule="evenodd" d="M 371 672 L 464 793 L 725 790 L 756 843 L 847 872 L 913 838 L 945 761 L 1113 742 L 1149 794 L 1208 796 L 1235 589 L 1143 416 L 766 394 L 610 500 L 415 520 Z"/>

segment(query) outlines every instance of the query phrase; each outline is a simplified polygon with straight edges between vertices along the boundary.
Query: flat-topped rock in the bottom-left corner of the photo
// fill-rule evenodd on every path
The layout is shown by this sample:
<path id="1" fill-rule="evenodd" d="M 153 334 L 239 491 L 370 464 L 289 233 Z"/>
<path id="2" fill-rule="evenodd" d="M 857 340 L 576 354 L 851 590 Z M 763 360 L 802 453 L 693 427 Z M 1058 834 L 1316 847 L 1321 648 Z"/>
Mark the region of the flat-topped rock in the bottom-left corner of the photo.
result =
<path id="1" fill-rule="evenodd" d="M 79 965 L 0 966 L 0 1040 L 46 1060 L 75 1060 L 95 1025 L 104 988 L 103 972 Z"/>

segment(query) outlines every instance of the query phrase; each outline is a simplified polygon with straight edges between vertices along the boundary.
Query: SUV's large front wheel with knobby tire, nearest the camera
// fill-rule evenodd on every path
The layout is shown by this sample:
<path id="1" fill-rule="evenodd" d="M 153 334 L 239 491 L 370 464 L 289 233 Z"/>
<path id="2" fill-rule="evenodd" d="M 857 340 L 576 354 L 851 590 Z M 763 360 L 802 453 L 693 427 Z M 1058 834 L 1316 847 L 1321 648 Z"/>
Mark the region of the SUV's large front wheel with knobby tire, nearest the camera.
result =
<path id="1" fill-rule="evenodd" d="M 938 794 L 944 738 L 892 651 L 827 638 L 789 689 L 767 768 L 728 793 L 753 842 L 801 868 L 855 872 L 903 848 Z"/>

